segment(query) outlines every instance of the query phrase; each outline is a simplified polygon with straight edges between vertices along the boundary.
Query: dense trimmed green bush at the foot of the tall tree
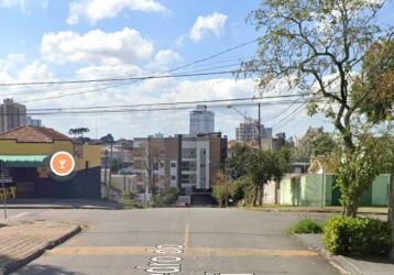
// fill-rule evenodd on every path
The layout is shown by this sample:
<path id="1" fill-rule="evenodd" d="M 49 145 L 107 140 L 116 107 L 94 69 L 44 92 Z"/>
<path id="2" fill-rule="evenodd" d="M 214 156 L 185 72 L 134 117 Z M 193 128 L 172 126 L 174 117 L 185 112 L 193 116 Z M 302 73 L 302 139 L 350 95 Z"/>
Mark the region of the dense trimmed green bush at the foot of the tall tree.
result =
<path id="1" fill-rule="evenodd" d="M 388 256 L 394 242 L 391 224 L 372 218 L 332 216 L 325 226 L 322 243 L 339 255 Z"/>

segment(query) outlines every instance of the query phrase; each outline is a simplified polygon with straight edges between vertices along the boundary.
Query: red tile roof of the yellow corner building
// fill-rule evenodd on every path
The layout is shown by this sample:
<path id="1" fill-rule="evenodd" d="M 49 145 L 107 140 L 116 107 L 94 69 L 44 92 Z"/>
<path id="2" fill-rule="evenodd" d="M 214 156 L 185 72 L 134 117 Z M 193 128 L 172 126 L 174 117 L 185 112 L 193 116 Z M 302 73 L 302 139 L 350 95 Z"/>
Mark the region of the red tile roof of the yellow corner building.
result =
<path id="1" fill-rule="evenodd" d="M 0 134 L 0 140 L 17 140 L 18 142 L 53 142 L 73 141 L 72 138 L 62 134 L 52 128 L 45 127 L 20 127 Z"/>

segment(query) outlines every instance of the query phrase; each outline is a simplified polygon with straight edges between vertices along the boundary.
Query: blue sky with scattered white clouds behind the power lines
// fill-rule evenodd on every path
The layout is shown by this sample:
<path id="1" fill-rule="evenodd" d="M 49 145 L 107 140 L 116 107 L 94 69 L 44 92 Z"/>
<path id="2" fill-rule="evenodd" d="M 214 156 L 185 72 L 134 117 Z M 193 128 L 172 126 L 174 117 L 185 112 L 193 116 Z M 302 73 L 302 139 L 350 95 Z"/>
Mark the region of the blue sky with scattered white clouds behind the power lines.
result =
<path id="1" fill-rule="evenodd" d="M 293 91 L 259 99 L 256 79 L 231 74 L 256 55 L 262 33 L 244 19 L 260 2 L 0 0 L 0 100 L 64 134 L 88 128 L 91 139 L 187 134 L 198 103 L 229 140 L 243 117 L 258 119 L 259 102 L 274 134 L 332 131 L 292 105 L 296 97 L 278 103 Z M 393 4 L 380 16 L 393 23 Z"/>

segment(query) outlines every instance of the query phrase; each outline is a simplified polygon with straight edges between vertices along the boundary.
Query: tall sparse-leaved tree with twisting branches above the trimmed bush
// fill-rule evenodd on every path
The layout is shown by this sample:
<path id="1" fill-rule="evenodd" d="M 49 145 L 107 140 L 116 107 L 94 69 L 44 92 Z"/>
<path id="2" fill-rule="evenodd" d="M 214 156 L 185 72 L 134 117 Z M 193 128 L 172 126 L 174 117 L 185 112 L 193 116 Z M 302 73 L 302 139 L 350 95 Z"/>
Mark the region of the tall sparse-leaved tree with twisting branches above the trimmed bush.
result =
<path id="1" fill-rule="evenodd" d="M 360 112 L 363 106 L 374 109 L 386 98 L 383 102 L 391 106 L 391 90 L 379 90 L 383 95 L 377 97 L 377 90 L 359 89 L 353 85 L 358 74 L 352 72 L 373 43 L 386 43 L 392 35 L 392 26 L 376 23 L 385 2 L 263 0 L 247 18 L 264 34 L 259 38 L 259 58 L 241 64 L 237 76 L 258 75 L 261 92 L 286 85 L 307 100 L 309 116 L 320 113 L 332 122 L 341 145 L 337 176 L 346 216 L 357 216 L 360 196 L 376 170 L 370 155 L 383 151 L 387 141 L 374 139 L 376 123 Z M 387 130 L 380 133 L 386 135 Z"/>

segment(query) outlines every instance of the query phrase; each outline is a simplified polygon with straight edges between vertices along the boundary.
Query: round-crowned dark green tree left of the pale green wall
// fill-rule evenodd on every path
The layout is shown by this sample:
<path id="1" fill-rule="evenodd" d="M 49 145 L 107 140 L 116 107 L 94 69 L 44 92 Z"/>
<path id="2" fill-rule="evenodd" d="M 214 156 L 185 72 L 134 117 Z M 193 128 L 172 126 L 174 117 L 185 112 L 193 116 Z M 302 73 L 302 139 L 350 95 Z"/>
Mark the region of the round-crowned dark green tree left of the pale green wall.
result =
<path id="1" fill-rule="evenodd" d="M 253 183 L 253 206 L 262 205 L 264 185 L 273 180 L 281 182 L 282 177 L 289 172 L 289 151 L 283 147 L 281 153 L 273 151 L 254 151 L 247 160 L 247 175 Z"/>

